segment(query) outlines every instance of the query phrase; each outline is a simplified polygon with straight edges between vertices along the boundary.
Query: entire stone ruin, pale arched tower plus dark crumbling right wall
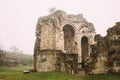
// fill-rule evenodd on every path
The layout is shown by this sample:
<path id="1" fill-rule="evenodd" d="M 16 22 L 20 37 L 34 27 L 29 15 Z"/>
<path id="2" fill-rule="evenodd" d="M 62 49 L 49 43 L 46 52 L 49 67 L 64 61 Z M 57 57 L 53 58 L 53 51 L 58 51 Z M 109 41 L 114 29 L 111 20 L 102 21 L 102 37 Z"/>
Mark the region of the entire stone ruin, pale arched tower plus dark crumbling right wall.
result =
<path id="1" fill-rule="evenodd" d="M 89 74 L 120 71 L 120 23 L 96 35 L 82 14 L 57 10 L 40 17 L 36 26 L 34 69 Z"/>

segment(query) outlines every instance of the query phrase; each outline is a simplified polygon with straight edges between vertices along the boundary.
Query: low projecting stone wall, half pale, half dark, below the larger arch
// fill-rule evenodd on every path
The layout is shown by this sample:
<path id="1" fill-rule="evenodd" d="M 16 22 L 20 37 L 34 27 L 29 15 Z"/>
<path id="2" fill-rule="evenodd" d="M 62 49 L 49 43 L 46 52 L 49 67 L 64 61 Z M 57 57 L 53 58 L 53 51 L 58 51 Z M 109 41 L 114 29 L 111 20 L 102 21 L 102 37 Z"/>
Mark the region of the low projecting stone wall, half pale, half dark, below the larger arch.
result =
<path id="1" fill-rule="evenodd" d="M 66 54 L 57 50 L 41 50 L 37 55 L 36 70 L 38 72 L 59 71 L 77 73 L 78 55 Z"/>

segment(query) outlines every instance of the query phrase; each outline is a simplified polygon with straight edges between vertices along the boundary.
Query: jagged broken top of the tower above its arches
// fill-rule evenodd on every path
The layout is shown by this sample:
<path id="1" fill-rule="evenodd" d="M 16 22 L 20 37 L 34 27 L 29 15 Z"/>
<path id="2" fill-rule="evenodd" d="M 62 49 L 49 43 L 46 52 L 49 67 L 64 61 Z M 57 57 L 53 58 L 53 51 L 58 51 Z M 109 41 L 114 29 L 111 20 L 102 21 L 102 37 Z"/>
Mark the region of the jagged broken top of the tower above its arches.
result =
<path id="1" fill-rule="evenodd" d="M 67 14 L 62 10 L 57 10 L 51 13 L 48 16 L 40 17 L 38 19 L 39 25 L 49 25 L 52 23 L 54 26 L 60 28 L 65 22 L 75 23 L 75 24 L 83 24 L 84 26 L 89 27 L 91 31 L 95 31 L 94 26 L 92 23 L 89 23 L 85 18 L 83 18 L 82 14 Z"/>

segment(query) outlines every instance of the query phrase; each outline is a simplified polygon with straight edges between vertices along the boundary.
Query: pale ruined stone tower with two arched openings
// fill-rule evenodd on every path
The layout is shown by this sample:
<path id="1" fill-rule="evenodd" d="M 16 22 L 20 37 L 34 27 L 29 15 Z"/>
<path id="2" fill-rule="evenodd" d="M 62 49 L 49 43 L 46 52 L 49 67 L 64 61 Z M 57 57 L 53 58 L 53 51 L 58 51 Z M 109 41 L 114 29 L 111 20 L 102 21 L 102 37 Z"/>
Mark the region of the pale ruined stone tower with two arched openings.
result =
<path id="1" fill-rule="evenodd" d="M 55 71 L 57 54 L 77 54 L 78 63 L 90 56 L 96 32 L 82 14 L 68 15 L 62 10 L 40 17 L 36 26 L 34 68 Z M 62 65 L 62 64 L 61 64 Z M 84 65 L 78 65 L 84 68 Z"/>

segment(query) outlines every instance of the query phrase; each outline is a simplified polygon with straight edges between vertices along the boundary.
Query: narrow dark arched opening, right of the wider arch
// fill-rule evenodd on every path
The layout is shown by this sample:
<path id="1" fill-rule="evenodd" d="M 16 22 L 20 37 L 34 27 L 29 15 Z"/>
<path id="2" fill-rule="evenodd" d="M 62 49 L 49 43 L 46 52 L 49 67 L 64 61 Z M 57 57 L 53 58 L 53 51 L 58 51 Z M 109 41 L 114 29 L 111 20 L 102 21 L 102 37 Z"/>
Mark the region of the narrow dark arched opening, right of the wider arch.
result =
<path id="1" fill-rule="evenodd" d="M 85 59 L 88 57 L 88 38 L 83 36 L 81 39 L 81 51 L 82 51 L 82 68 L 85 67 Z"/>

